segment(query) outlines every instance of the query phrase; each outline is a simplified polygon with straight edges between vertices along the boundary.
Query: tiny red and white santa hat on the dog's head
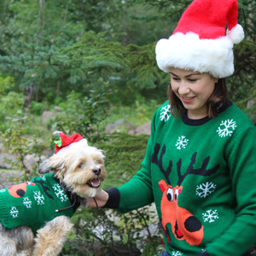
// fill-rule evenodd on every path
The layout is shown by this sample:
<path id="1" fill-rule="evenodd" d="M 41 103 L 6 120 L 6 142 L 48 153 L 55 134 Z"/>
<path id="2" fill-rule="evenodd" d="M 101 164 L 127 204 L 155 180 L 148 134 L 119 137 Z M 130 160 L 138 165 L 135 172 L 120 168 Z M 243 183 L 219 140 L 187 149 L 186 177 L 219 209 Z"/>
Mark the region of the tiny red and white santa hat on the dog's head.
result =
<path id="1" fill-rule="evenodd" d="M 75 133 L 69 137 L 61 131 L 55 131 L 55 134 L 59 134 L 61 137 L 59 141 L 55 141 L 56 154 L 67 154 L 71 148 L 84 148 L 88 146 L 87 140 L 79 133 Z"/>

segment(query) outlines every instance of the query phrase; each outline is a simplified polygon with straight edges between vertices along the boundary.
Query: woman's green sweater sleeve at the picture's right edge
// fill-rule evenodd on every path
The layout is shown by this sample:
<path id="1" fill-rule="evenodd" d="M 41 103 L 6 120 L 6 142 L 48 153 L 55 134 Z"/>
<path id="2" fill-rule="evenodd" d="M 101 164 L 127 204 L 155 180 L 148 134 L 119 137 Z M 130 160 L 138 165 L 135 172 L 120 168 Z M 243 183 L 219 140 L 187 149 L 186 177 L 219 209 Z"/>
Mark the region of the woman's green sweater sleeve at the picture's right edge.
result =
<path id="1" fill-rule="evenodd" d="M 256 239 L 256 129 L 245 128 L 230 143 L 227 161 L 236 220 L 218 239 L 207 245 L 211 256 L 241 256 Z"/>

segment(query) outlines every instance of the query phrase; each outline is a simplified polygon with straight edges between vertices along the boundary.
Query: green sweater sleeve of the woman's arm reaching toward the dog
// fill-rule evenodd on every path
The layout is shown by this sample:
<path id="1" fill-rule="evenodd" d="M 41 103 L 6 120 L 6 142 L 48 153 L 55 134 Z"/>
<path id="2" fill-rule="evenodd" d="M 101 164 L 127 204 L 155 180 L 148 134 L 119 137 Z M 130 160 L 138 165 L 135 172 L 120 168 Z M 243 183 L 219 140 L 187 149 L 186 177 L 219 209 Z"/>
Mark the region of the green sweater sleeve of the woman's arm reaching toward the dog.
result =
<path id="1" fill-rule="evenodd" d="M 151 122 L 151 136 L 148 140 L 147 151 L 142 163 L 142 168 L 137 174 L 119 188 L 120 202 L 117 210 L 121 213 L 144 207 L 154 202 L 151 180 L 152 141 L 154 139 L 154 119 Z"/>

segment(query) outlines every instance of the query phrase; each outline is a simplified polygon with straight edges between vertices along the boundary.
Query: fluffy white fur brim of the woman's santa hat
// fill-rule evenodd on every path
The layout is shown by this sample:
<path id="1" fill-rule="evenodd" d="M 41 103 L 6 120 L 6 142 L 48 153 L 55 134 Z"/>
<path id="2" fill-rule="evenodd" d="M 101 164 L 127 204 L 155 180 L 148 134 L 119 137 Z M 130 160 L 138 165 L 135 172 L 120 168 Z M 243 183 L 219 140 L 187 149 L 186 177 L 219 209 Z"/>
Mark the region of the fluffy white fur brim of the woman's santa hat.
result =
<path id="1" fill-rule="evenodd" d="M 232 32 L 232 30 L 231 30 Z M 233 42 L 230 37 L 200 39 L 193 32 L 177 32 L 156 44 L 156 61 L 161 70 L 170 67 L 210 73 L 214 78 L 225 78 L 234 73 Z"/>

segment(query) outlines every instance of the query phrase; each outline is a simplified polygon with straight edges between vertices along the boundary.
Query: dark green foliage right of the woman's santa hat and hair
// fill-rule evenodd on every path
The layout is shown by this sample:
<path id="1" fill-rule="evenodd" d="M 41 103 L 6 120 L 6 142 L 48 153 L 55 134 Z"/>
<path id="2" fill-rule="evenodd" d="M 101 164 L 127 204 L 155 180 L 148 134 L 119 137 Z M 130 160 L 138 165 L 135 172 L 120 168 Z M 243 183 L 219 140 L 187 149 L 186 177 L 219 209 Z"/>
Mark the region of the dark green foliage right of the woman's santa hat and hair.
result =
<path id="1" fill-rule="evenodd" d="M 247 108 L 247 102 L 256 96 L 256 2 L 241 0 L 239 6 L 239 22 L 246 38 L 234 47 L 235 73 L 228 79 L 228 84 L 231 100 L 255 122 L 256 105 Z"/>

